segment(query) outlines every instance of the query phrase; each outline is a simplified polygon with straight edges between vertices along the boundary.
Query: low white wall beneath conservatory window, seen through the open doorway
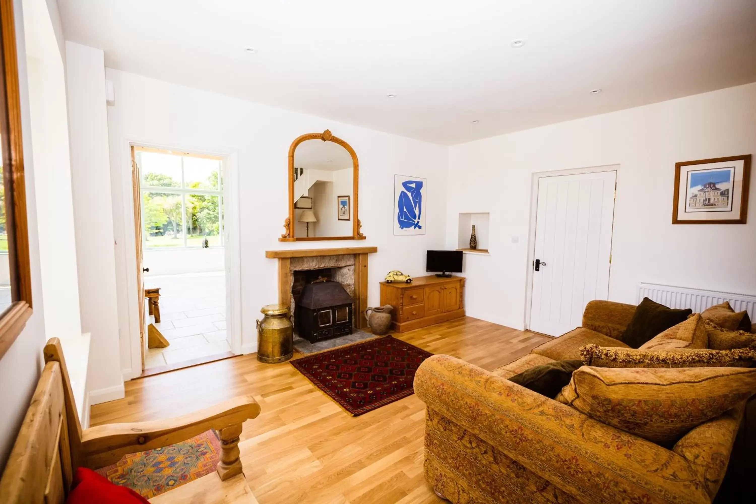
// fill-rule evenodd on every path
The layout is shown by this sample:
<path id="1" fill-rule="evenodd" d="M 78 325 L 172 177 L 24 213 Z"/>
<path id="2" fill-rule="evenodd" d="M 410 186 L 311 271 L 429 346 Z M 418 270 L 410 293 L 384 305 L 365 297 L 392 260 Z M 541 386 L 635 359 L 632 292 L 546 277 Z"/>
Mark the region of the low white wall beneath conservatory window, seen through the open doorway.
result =
<path id="1" fill-rule="evenodd" d="M 144 267 L 150 271 L 144 274 L 145 282 L 156 275 L 175 275 L 181 273 L 204 273 L 223 271 L 222 247 L 212 249 L 147 249 L 144 251 Z"/>

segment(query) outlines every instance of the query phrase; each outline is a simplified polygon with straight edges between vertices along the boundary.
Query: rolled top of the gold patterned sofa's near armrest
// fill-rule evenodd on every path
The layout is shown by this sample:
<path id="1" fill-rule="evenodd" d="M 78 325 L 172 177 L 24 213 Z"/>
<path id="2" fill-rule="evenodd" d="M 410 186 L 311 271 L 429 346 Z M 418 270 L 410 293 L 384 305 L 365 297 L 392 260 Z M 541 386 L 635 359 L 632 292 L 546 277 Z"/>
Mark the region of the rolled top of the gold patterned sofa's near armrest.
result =
<path id="1" fill-rule="evenodd" d="M 711 502 L 683 456 L 463 360 L 429 357 L 414 389 L 430 410 L 581 502 Z"/>

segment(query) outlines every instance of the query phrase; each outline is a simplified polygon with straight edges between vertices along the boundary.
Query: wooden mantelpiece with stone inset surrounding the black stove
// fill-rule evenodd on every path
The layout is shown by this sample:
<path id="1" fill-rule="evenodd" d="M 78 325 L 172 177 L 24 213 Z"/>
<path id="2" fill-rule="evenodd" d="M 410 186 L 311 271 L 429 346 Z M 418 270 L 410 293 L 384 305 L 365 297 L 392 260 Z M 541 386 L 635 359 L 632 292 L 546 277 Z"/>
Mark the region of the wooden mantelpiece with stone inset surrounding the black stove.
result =
<path id="1" fill-rule="evenodd" d="M 293 311 L 292 286 L 295 272 L 333 268 L 333 280 L 341 283 L 355 300 L 355 327 L 367 327 L 367 257 L 377 247 L 343 247 L 337 249 L 268 250 L 265 257 L 278 262 L 278 304 Z"/>

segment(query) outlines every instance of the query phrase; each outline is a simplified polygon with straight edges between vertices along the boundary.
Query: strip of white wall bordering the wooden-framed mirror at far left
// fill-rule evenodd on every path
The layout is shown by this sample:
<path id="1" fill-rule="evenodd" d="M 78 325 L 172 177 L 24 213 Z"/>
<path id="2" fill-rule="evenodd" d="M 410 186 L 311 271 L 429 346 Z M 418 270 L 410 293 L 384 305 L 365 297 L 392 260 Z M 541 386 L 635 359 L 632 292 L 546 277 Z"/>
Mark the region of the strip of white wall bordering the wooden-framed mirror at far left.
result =
<path id="1" fill-rule="evenodd" d="M 16 341 L 0 359 L 0 472 L 5 468 L 16 434 L 29 407 L 42 371 L 42 348 L 45 346 L 45 311 L 39 267 L 37 236 L 37 200 L 35 187 L 32 130 L 29 114 L 29 91 L 26 76 L 26 43 L 24 42 L 23 8 L 14 0 L 14 24 L 18 57 L 21 125 L 23 135 L 24 175 L 26 177 L 26 222 L 29 230 L 29 264 L 32 274 L 33 314 Z"/>

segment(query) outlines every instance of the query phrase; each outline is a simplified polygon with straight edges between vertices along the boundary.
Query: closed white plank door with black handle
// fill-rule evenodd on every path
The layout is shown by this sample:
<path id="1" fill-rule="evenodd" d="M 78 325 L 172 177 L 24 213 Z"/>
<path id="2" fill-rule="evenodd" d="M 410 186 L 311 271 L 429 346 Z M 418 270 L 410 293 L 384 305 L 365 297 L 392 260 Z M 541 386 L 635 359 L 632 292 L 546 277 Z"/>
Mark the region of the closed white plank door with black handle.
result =
<path id="1" fill-rule="evenodd" d="M 538 179 L 530 325 L 558 336 L 609 295 L 617 172 Z"/>

